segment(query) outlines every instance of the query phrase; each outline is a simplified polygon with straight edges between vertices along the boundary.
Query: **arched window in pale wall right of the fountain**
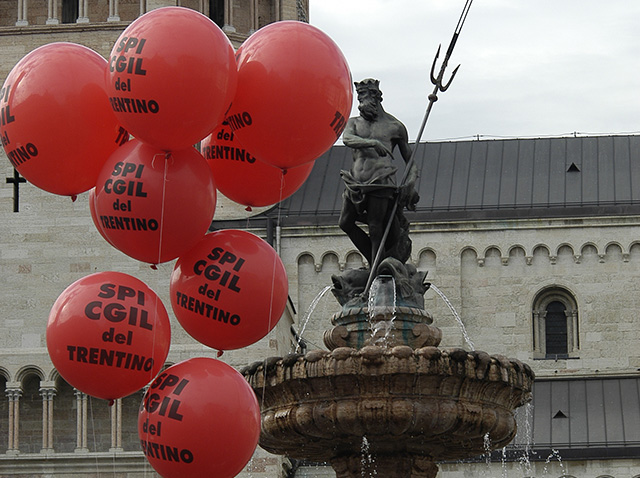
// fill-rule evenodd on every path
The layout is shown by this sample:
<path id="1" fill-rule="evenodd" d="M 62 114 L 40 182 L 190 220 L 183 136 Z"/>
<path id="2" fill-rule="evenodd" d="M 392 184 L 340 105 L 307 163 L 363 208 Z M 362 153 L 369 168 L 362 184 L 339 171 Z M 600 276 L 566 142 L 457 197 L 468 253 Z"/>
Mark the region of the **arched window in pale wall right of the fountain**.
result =
<path id="1" fill-rule="evenodd" d="M 532 312 L 534 357 L 576 357 L 578 304 L 573 295 L 561 287 L 543 289 L 534 299 Z"/>

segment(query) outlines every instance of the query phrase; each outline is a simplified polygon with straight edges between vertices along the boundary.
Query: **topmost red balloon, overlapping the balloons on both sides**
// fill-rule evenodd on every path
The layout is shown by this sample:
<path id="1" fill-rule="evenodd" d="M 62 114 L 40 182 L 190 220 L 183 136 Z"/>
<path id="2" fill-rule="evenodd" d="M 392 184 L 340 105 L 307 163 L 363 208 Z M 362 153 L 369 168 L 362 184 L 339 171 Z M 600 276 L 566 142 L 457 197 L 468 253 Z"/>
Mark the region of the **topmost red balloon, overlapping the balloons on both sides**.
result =
<path id="1" fill-rule="evenodd" d="M 233 46 L 195 10 L 163 7 L 134 20 L 111 50 L 109 100 L 131 134 L 160 149 L 192 146 L 223 119 L 236 91 Z"/>

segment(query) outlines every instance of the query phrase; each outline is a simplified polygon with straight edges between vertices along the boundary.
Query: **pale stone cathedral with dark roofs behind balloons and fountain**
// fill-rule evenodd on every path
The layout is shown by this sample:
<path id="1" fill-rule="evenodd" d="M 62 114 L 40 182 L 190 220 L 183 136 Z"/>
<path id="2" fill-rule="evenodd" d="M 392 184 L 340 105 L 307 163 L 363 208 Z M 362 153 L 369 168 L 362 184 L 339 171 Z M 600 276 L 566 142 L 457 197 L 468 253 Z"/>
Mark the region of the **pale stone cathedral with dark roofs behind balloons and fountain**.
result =
<path id="1" fill-rule="evenodd" d="M 107 56 L 128 22 L 164 4 L 0 0 L 0 77 L 54 41 Z M 236 47 L 271 21 L 308 20 L 304 1 L 181 5 L 211 16 Z M 442 346 L 517 358 L 538 378 L 515 445 L 476 463 L 442 464 L 440 476 L 638 478 L 640 138 L 439 143 L 416 154 L 421 201 L 410 217 L 410 261 L 435 286 L 425 304 Z M 0 172 L 13 181 L 1 156 Z M 290 287 L 278 327 L 222 360 L 241 368 L 301 346 L 324 348 L 323 331 L 339 308 L 331 276 L 363 265 L 337 226 L 338 171 L 349 162 L 346 148 L 332 148 L 279 207 L 250 213 L 219 200 L 212 228 L 242 228 L 271 242 Z M 152 270 L 107 244 L 87 194 L 71 202 L 0 180 L 0 476 L 153 476 L 137 437 L 141 393 L 109 407 L 75 390 L 51 364 L 45 327 L 58 295 L 98 271 L 131 274 L 166 303 L 173 263 Z M 215 357 L 173 319 L 172 326 L 167 365 Z M 335 474 L 258 449 L 240 476 Z"/>

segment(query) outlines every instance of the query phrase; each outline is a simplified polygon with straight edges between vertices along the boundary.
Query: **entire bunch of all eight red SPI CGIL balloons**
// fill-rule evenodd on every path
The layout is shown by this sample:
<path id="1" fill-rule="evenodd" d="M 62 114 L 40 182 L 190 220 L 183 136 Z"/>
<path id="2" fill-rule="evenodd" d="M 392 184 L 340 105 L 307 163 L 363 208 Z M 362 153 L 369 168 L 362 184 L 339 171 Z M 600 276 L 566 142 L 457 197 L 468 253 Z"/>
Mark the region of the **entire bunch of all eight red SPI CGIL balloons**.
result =
<path id="1" fill-rule="evenodd" d="M 89 191 L 93 222 L 113 247 L 152 265 L 177 259 L 173 312 L 192 337 L 222 351 L 275 327 L 288 281 L 258 236 L 208 234 L 217 191 L 247 208 L 292 195 L 342 133 L 351 104 L 347 62 L 316 27 L 276 22 L 234 52 L 208 17 L 163 7 L 132 22 L 108 59 L 65 42 L 26 55 L 0 90 L 0 138 L 38 188 Z M 47 347 L 65 380 L 95 397 L 114 400 L 152 382 L 139 432 L 162 476 L 235 476 L 257 444 L 255 396 L 216 360 L 187 361 L 153 381 L 170 335 L 151 289 L 102 272 L 59 296 Z M 212 447 L 214 437 L 224 442 Z"/>

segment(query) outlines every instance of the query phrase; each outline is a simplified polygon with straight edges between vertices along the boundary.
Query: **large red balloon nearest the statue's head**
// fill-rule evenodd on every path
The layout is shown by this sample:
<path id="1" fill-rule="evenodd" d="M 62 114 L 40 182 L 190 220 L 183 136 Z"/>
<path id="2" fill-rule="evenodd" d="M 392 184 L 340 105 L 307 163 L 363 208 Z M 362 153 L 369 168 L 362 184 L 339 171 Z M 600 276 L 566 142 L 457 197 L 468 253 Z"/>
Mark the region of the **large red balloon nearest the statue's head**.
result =
<path id="1" fill-rule="evenodd" d="M 227 114 L 242 144 L 287 169 L 335 143 L 351 112 L 353 84 L 338 46 L 308 23 L 271 23 L 239 48 L 238 90 Z"/>

